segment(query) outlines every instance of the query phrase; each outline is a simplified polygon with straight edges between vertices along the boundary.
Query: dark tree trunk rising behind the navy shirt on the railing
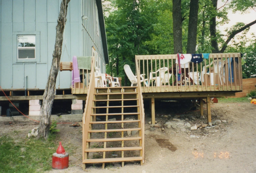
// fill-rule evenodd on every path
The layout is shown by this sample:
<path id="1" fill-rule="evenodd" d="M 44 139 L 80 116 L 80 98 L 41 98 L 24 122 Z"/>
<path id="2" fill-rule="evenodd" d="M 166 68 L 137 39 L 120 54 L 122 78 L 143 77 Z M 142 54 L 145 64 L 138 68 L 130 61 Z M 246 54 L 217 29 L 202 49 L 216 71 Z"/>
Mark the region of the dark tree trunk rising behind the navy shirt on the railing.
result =
<path id="1" fill-rule="evenodd" d="M 190 1 L 187 54 L 194 54 L 195 53 L 196 36 L 197 36 L 198 8 L 199 8 L 198 2 L 199 2 L 199 0 L 191 0 Z"/>

